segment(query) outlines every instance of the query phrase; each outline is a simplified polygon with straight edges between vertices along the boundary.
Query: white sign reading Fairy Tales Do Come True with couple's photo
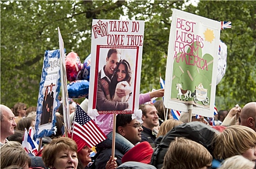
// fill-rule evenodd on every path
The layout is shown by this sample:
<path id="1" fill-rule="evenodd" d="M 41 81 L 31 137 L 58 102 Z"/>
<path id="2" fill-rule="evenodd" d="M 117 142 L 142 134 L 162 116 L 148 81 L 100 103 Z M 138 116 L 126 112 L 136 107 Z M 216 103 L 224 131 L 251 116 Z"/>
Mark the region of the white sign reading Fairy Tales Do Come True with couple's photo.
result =
<path id="1" fill-rule="evenodd" d="M 143 40 L 144 21 L 93 20 L 88 111 L 138 109 Z"/>

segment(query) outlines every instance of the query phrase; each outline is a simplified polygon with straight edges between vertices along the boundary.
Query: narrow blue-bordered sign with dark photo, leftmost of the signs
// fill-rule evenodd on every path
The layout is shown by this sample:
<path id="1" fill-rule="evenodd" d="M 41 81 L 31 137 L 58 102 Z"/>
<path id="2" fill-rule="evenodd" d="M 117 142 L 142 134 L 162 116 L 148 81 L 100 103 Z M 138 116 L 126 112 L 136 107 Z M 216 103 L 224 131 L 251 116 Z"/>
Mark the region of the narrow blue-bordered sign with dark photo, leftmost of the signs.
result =
<path id="1" fill-rule="evenodd" d="M 51 136 L 57 130 L 55 113 L 58 109 L 60 86 L 60 50 L 47 50 L 39 85 L 35 138 Z"/>

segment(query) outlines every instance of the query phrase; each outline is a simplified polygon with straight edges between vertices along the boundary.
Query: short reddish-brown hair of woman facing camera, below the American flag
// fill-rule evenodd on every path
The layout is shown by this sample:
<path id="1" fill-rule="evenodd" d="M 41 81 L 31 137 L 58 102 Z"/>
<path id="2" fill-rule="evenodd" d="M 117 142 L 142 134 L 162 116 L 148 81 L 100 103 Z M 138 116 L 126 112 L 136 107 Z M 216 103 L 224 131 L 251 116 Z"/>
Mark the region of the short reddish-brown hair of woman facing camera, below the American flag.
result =
<path id="1" fill-rule="evenodd" d="M 53 165 L 56 152 L 60 152 L 62 150 L 77 152 L 77 144 L 75 141 L 68 137 L 59 137 L 53 139 L 49 144 L 45 146 L 42 151 L 42 158 L 45 166 L 49 167 L 50 165 Z"/>

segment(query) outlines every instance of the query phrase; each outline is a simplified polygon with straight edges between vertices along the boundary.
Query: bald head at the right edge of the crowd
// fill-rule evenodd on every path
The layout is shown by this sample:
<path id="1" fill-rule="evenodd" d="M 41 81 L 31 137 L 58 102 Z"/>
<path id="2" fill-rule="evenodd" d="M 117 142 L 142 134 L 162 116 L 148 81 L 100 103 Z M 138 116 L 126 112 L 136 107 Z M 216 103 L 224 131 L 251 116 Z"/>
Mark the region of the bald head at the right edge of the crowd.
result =
<path id="1" fill-rule="evenodd" d="M 256 102 L 244 105 L 240 115 L 241 126 L 250 127 L 256 131 Z"/>

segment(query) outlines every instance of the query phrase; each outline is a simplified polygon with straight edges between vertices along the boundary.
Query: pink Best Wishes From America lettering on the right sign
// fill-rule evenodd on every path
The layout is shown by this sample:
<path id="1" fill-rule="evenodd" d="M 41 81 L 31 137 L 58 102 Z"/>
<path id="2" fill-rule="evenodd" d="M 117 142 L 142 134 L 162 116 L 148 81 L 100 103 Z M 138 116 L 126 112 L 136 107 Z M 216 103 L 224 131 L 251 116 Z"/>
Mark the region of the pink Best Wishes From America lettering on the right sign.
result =
<path id="1" fill-rule="evenodd" d="M 176 60 L 177 63 L 186 62 L 186 65 L 197 66 L 202 70 L 208 70 L 207 60 L 198 56 L 199 47 L 204 47 L 204 39 L 194 33 L 195 25 L 195 22 L 177 18 L 174 60 Z M 196 42 L 196 44 L 194 44 L 194 42 Z M 187 51 L 185 49 L 187 49 Z M 190 51 L 188 49 L 190 49 Z"/>

